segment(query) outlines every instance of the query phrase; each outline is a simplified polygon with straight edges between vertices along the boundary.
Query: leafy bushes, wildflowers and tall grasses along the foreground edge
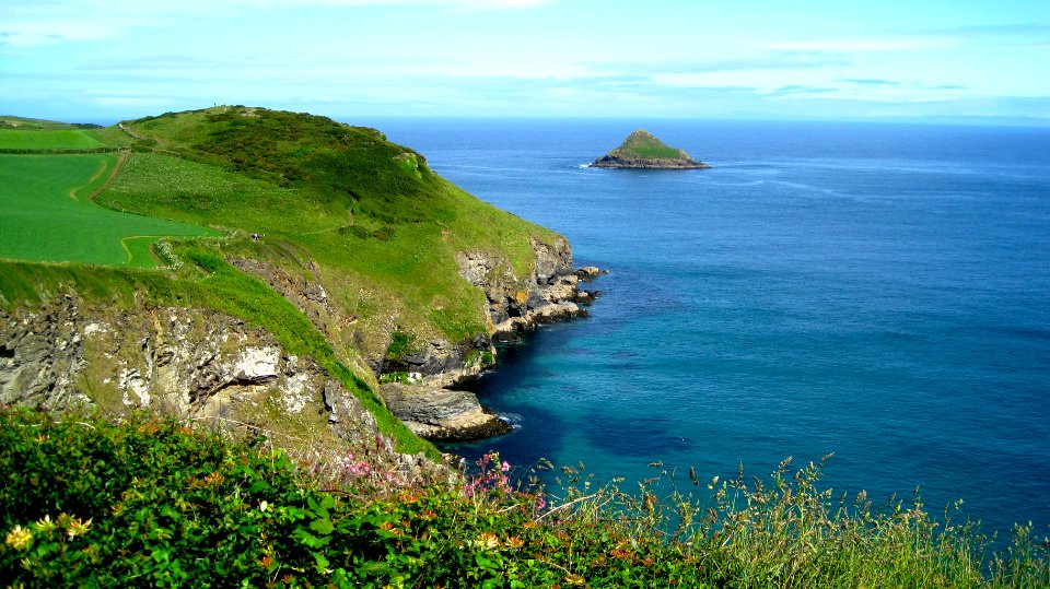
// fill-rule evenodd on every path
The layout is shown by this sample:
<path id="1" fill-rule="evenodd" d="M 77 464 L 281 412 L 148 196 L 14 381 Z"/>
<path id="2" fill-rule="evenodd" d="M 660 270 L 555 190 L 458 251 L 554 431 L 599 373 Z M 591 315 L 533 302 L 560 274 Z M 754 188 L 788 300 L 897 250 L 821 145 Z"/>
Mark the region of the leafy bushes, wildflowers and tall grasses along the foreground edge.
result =
<path id="1" fill-rule="evenodd" d="M 813 464 L 633 494 L 563 469 L 511 485 L 482 459 L 421 486 L 369 456 L 322 463 L 143 414 L 0 411 L 0 578 L 11 586 L 1042 587 L 1047 542 L 918 503 L 833 502 Z M 699 483 L 696 476 L 691 476 Z"/>

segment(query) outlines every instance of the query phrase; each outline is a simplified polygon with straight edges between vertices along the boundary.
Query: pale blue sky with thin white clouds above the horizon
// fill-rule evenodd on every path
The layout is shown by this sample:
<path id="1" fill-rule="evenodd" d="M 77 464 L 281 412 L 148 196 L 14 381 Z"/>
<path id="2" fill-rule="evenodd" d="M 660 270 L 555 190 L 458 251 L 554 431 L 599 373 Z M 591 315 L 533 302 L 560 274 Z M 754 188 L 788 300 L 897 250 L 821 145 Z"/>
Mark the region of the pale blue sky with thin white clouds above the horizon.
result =
<path id="1" fill-rule="evenodd" d="M 1050 126 L 1050 0 L 0 0 L 0 115 Z"/>

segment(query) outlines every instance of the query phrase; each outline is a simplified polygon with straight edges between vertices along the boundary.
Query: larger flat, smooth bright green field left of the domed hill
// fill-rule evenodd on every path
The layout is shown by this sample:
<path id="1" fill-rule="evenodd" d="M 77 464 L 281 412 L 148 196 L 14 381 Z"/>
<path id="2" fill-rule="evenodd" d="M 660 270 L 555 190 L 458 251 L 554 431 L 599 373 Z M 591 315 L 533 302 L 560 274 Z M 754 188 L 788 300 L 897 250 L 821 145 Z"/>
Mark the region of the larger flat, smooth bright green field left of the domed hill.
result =
<path id="1" fill-rule="evenodd" d="M 91 202 L 116 164 L 114 154 L 0 154 L 0 258 L 153 268 L 156 239 L 215 235 Z"/>

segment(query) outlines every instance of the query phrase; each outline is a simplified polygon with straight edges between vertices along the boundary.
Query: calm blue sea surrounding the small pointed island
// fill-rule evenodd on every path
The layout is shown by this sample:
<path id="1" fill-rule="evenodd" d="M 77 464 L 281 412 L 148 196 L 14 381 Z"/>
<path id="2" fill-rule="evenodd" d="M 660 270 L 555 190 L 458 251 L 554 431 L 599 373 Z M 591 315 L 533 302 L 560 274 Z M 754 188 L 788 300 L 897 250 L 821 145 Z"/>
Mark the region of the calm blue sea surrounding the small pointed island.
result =
<path id="1" fill-rule="evenodd" d="M 515 431 L 454 451 L 686 482 L 833 452 L 836 493 L 1050 532 L 1050 130 L 363 122 L 610 271 L 478 385 Z M 583 167 L 639 125 L 714 167 Z"/>

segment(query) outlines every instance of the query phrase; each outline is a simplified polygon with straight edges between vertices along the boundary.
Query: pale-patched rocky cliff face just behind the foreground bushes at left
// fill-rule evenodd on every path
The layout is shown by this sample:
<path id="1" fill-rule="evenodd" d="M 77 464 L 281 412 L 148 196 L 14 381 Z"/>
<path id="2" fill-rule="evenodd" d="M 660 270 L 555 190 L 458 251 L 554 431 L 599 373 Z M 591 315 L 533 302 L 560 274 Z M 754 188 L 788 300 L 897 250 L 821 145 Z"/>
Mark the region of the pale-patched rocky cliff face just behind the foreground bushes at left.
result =
<path id="1" fill-rule="evenodd" d="M 234 317 L 95 309 L 66 295 L 38 310 L 0 311 L 0 403 L 150 408 L 334 458 L 366 451 L 407 476 L 447 475 L 396 452 L 372 413 L 314 361 L 284 353 L 265 330 Z"/>

